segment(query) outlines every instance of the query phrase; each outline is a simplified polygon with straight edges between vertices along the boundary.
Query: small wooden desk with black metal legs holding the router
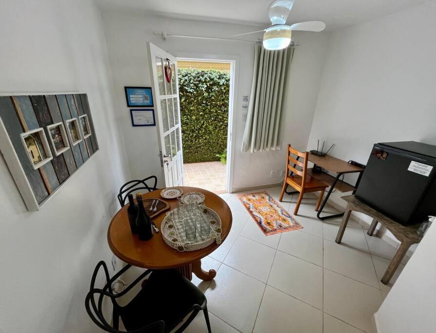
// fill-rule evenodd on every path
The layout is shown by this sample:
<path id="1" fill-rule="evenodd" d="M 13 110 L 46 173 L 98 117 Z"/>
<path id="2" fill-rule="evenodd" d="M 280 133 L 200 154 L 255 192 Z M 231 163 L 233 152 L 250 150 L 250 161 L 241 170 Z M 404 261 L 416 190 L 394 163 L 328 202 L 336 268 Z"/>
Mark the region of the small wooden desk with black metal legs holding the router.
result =
<path id="1" fill-rule="evenodd" d="M 298 157 L 297 157 L 298 159 Z M 327 192 L 327 195 L 324 197 L 324 200 L 322 201 L 322 204 L 317 212 L 317 217 L 320 220 L 324 220 L 326 218 L 335 218 L 340 217 L 344 215 L 344 213 L 340 214 L 334 214 L 334 215 L 328 215 L 328 216 L 321 216 L 322 210 L 324 209 L 324 206 L 327 204 L 327 201 L 332 194 L 333 190 L 336 189 L 337 191 L 343 193 L 343 192 L 353 192 L 355 194 L 357 186 L 360 181 L 360 177 L 362 176 L 362 172 L 365 170 L 364 168 L 358 167 L 354 164 L 348 163 L 346 161 L 343 161 L 342 159 L 325 155 L 325 156 L 317 156 L 315 154 L 309 153 L 309 161 L 314 163 L 315 166 L 321 167 L 323 169 L 329 170 L 331 172 L 336 173 L 336 177 L 331 176 L 327 174 L 326 172 L 315 172 L 314 168 L 308 169 L 307 173 L 317 178 L 318 180 L 322 181 L 324 184 L 330 186 L 329 191 Z M 295 165 L 294 165 L 295 167 Z M 350 185 L 346 183 L 343 180 L 340 180 L 340 176 L 344 174 L 351 174 L 351 173 L 359 173 L 359 176 L 357 178 L 356 185 Z M 286 192 L 287 194 L 291 194 L 294 192 Z"/>

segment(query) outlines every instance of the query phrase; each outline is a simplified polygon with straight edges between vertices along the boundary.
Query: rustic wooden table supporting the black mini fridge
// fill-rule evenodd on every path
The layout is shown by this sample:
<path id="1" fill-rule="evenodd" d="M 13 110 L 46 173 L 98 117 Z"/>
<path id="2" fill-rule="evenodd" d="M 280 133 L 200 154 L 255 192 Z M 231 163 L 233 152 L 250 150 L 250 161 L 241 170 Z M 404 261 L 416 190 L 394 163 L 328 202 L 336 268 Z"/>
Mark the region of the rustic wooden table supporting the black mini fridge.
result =
<path id="1" fill-rule="evenodd" d="M 395 236 L 395 238 L 401 242 L 398 250 L 396 251 L 396 254 L 394 255 L 394 258 L 392 259 L 388 269 L 386 270 L 385 274 L 381 279 L 381 282 L 383 284 L 388 284 L 404 255 L 406 255 L 409 247 L 412 244 L 419 243 L 421 241 L 422 236 L 416 234 L 416 230 L 418 230 L 419 224 L 414 224 L 410 226 L 401 225 L 393 219 L 389 218 L 388 216 L 376 211 L 374 208 L 371 208 L 367 204 L 363 203 L 354 195 L 342 196 L 342 199 L 347 201 L 348 204 L 345 215 L 342 218 L 339 231 L 337 232 L 337 244 L 340 244 L 342 240 L 342 236 L 344 235 L 345 228 L 347 227 L 348 219 L 350 218 L 350 214 L 352 211 L 360 212 L 373 218 L 373 223 L 371 223 L 371 226 L 368 230 L 368 235 L 372 236 L 374 234 L 377 223 L 380 222 L 382 226 L 388 229 Z"/>

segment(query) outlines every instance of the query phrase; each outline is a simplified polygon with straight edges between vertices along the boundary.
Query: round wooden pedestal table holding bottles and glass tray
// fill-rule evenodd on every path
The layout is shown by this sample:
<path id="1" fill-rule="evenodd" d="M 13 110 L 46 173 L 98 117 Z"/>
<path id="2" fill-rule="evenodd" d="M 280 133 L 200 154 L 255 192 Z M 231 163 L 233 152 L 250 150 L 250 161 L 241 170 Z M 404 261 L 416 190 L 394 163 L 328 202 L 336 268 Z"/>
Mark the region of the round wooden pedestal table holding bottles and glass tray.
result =
<path id="1" fill-rule="evenodd" d="M 232 227 L 232 212 L 226 202 L 218 195 L 197 188 L 182 187 L 183 193 L 201 192 L 204 194 L 204 202 L 207 207 L 213 209 L 221 218 L 221 243 L 225 240 Z M 161 190 L 146 193 L 143 198 L 159 198 L 170 204 L 170 210 L 176 208 L 176 199 L 164 199 L 160 196 Z M 129 219 L 127 217 L 127 207 L 125 205 L 114 216 L 107 231 L 107 241 L 112 252 L 124 262 L 133 266 L 149 269 L 168 269 L 177 268 L 184 276 L 192 279 L 192 273 L 204 281 L 212 280 L 217 272 L 209 270 L 205 272 L 201 269 L 201 258 L 215 251 L 220 244 L 212 245 L 197 251 L 178 252 L 169 247 L 159 231 L 154 234 L 150 240 L 139 240 L 138 235 L 133 235 L 130 231 Z M 166 212 L 165 212 L 166 213 Z M 153 221 L 160 230 L 165 213 L 155 217 Z"/>

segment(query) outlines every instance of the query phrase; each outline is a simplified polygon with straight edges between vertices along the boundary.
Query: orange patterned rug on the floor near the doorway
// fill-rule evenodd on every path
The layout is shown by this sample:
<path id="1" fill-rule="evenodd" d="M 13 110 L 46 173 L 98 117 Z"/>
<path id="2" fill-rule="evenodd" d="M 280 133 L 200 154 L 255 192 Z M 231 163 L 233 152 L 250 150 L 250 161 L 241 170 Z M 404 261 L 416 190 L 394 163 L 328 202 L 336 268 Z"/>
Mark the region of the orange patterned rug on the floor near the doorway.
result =
<path id="1" fill-rule="evenodd" d="M 267 236 L 303 228 L 266 192 L 241 194 L 238 198 Z"/>

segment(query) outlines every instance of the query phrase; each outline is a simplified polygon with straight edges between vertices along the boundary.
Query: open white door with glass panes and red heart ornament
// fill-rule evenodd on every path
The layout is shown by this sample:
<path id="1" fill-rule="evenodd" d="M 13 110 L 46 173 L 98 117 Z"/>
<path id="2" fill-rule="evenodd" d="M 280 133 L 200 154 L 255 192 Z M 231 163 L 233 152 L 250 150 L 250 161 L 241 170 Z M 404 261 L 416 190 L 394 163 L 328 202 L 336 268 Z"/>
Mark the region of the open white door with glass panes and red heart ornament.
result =
<path id="1" fill-rule="evenodd" d="M 183 186 L 177 60 L 150 42 L 147 42 L 147 51 L 153 82 L 153 99 L 156 101 L 158 141 L 165 186 Z M 171 74 L 165 71 L 165 65 L 169 65 Z"/>

